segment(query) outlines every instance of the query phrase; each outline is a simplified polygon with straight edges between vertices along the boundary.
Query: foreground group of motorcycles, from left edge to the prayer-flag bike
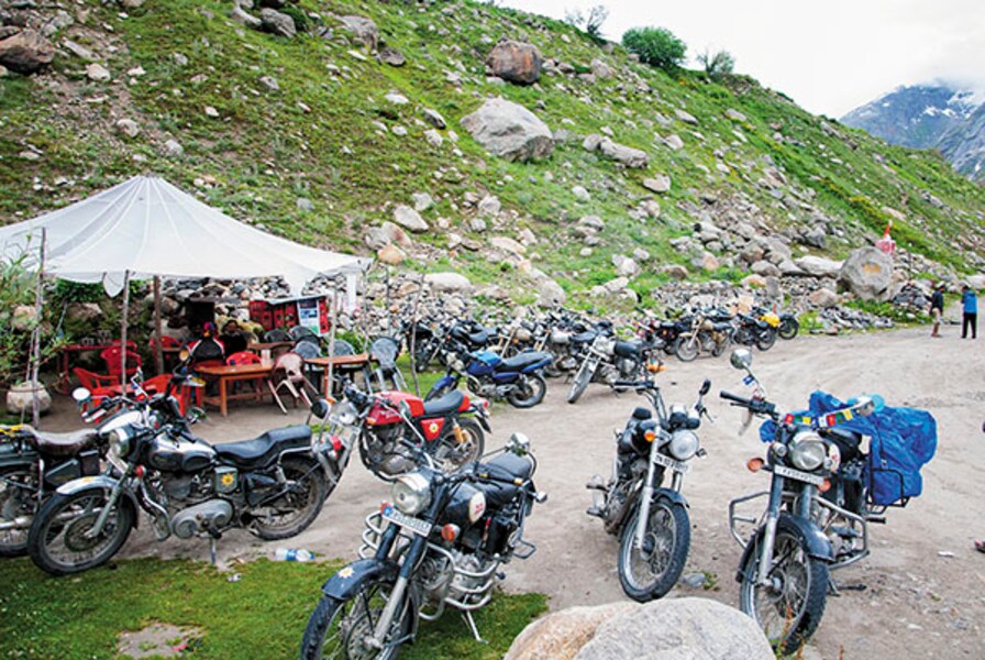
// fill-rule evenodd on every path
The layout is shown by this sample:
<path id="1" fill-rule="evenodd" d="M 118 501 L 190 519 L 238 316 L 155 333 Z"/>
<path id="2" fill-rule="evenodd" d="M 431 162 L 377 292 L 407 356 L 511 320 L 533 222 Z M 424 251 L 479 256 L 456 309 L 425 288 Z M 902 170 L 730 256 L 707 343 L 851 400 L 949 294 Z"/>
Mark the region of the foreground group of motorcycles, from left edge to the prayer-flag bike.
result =
<path id="1" fill-rule="evenodd" d="M 871 398 L 822 417 L 783 416 L 751 371 L 748 350 L 732 353 L 750 397 L 721 397 L 773 422 L 765 459 L 768 491 L 732 501 L 730 528 L 744 546 L 737 571 L 740 605 L 771 642 L 793 651 L 814 632 L 829 571 L 868 553 L 868 522 L 885 521 L 875 499 L 863 438 L 840 419 L 878 413 Z M 627 595 L 658 598 L 678 581 L 690 544 L 683 477 L 704 455 L 698 437 L 708 411 L 705 383 L 691 406 L 666 405 L 651 365 L 613 387 L 649 399 L 616 433 L 608 479 L 595 477 L 588 514 L 620 539 L 617 564 Z M 309 424 L 212 446 L 182 416 L 173 391 L 193 384 L 185 367 L 159 394 L 107 398 L 92 406 L 97 426 L 68 435 L 11 427 L 0 439 L 0 554 L 29 552 L 43 570 L 65 575 L 109 561 L 147 514 L 158 539 L 208 539 L 213 558 L 223 532 L 244 528 L 262 539 L 299 534 L 318 517 L 353 453 L 391 483 L 390 498 L 367 517 L 359 559 L 322 586 L 301 657 L 391 657 L 411 642 L 421 619 L 451 607 L 480 639 L 472 613 L 485 606 L 500 568 L 535 547 L 524 538 L 536 460 L 520 433 L 486 453 L 485 402 L 461 391 L 423 400 L 402 392 L 363 392 L 352 384 L 331 405 L 318 400 Z M 765 512 L 744 503 L 765 497 Z M 896 498 L 905 504 L 901 492 Z M 882 504 L 879 504 L 882 503 Z M 746 526 L 743 529 L 743 526 Z"/>

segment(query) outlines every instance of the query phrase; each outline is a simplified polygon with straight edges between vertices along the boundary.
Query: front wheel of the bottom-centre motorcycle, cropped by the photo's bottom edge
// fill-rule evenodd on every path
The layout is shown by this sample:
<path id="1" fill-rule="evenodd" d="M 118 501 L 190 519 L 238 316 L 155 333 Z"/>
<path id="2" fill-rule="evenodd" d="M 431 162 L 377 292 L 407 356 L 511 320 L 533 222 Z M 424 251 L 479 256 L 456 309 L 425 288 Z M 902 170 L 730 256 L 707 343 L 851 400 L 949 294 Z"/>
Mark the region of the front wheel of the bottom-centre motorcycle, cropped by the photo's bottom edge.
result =
<path id="1" fill-rule="evenodd" d="M 308 619 L 301 639 L 301 659 L 345 658 L 352 660 L 388 660 L 400 652 L 399 644 L 413 627 L 417 613 L 407 607 L 398 608 L 394 625 L 383 640 L 383 648 L 374 648 L 367 640 L 373 636 L 394 584 L 373 581 L 363 584 L 346 600 L 322 597 Z M 402 610 L 401 610 L 402 609 Z"/>

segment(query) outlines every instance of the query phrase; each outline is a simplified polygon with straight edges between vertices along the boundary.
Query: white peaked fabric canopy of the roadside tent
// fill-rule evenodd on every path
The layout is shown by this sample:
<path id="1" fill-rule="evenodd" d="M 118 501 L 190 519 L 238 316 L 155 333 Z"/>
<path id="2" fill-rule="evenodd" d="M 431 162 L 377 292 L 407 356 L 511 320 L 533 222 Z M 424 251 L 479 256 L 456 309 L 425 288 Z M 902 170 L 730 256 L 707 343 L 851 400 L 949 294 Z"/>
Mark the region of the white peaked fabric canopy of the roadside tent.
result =
<path id="1" fill-rule="evenodd" d="M 239 222 L 154 176 L 137 176 L 33 220 L 0 227 L 0 257 L 36 258 L 45 272 L 102 282 L 111 294 L 133 279 L 284 277 L 292 292 L 321 274 L 364 271 L 369 260 L 308 248 Z"/>

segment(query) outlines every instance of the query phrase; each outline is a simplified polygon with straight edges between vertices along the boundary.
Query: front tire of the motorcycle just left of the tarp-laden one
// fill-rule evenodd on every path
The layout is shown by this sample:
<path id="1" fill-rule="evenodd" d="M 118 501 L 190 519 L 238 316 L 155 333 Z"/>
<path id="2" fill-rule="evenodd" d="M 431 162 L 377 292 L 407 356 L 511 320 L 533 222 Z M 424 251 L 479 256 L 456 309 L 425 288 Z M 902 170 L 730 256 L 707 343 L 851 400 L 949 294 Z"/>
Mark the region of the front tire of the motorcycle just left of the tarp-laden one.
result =
<path id="1" fill-rule="evenodd" d="M 634 548 L 638 522 L 634 509 L 619 537 L 619 582 L 627 596 L 646 603 L 665 596 L 680 579 L 690 550 L 690 520 L 683 505 L 658 498 L 650 506 L 643 548 Z"/>

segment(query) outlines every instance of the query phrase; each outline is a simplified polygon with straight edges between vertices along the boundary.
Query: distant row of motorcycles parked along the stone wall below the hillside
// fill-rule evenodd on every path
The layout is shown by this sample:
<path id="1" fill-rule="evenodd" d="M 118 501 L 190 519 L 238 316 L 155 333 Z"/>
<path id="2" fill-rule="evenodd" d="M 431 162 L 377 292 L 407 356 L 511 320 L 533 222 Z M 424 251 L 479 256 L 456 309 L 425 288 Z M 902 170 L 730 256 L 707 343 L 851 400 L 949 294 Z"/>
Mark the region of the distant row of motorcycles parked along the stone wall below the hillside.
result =
<path id="1" fill-rule="evenodd" d="M 641 378 L 662 354 L 689 362 L 702 352 L 721 355 L 733 343 L 765 351 L 777 337 L 796 337 L 799 323 L 793 314 L 764 307 L 748 314 L 708 308 L 674 320 L 644 316 L 631 331 L 631 339 L 620 339 L 611 321 L 590 320 L 564 308 L 502 327 L 440 315 L 401 324 L 417 371 L 434 361 L 447 370 L 427 398 L 456 389 L 464 380 L 476 396 L 529 408 L 544 399 L 546 377 L 571 381 L 567 400 L 574 404 L 590 383 L 621 389 L 617 381 Z"/>

